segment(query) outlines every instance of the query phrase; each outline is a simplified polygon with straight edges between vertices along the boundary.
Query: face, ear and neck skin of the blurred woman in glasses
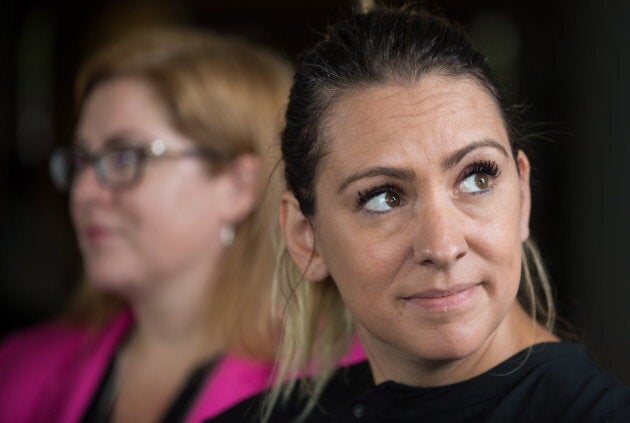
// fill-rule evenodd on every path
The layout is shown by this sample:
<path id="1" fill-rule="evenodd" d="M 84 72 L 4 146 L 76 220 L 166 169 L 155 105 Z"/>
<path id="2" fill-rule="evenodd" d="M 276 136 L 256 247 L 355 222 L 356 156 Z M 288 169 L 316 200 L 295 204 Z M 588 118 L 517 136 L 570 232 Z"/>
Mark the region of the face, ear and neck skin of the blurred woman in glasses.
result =
<path id="1" fill-rule="evenodd" d="M 91 154 L 115 138 L 134 146 L 159 138 L 170 152 L 196 146 L 151 87 L 130 77 L 97 86 L 76 130 Z M 124 298 L 136 319 L 119 352 L 115 421 L 157 421 L 192 368 L 224 348 L 206 318 L 226 248 L 220 231 L 253 209 L 258 172 L 258 159 L 242 156 L 215 174 L 199 158 L 149 161 L 122 190 L 103 186 L 93 166 L 77 175 L 71 210 L 87 277 Z"/>

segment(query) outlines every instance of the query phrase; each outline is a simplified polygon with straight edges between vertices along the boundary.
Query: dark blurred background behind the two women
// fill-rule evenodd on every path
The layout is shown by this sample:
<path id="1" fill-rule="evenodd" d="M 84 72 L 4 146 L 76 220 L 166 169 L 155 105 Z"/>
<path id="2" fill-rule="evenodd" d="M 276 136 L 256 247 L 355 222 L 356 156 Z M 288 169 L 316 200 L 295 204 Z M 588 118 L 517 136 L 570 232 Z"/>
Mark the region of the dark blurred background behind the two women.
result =
<path id="1" fill-rule="evenodd" d="M 532 234 L 560 314 L 630 383 L 630 2 L 426 4 L 464 24 L 528 106 Z M 81 276 L 67 198 L 53 190 L 47 159 L 71 138 L 73 79 L 87 56 L 163 23 L 242 34 L 295 62 L 351 10 L 350 0 L 2 2 L 0 336 L 54 316 Z"/>

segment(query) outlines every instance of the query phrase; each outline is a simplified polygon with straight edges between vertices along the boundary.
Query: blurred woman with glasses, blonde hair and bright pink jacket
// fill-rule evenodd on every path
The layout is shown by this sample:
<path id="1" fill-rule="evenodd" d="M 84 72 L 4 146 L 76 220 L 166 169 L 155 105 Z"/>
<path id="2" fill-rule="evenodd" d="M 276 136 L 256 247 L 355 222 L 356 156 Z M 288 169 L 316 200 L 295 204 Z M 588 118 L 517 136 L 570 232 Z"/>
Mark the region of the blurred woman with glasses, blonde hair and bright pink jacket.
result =
<path id="1" fill-rule="evenodd" d="M 290 77 L 265 49 L 177 29 L 87 62 L 51 163 L 86 283 L 63 319 L 0 347 L 0 421 L 193 422 L 265 387 Z"/>

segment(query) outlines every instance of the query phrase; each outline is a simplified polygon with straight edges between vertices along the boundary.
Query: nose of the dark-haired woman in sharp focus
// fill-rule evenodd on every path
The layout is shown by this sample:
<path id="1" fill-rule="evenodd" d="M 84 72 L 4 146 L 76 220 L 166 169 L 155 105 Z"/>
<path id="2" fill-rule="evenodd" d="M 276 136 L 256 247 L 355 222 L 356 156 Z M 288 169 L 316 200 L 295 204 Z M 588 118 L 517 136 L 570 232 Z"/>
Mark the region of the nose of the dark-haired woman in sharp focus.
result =
<path id="1" fill-rule="evenodd" d="M 425 201 L 415 219 L 413 255 L 417 263 L 447 269 L 466 256 L 465 217 L 448 199 Z"/>

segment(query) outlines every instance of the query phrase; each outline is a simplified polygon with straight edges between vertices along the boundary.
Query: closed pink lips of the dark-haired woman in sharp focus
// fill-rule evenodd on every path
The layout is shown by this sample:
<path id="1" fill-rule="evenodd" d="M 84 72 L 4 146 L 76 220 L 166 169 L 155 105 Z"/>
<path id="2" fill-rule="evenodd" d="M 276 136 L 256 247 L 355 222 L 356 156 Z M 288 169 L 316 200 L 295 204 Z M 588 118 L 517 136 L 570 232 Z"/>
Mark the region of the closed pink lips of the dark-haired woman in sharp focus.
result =
<path id="1" fill-rule="evenodd" d="M 446 312 L 468 304 L 480 286 L 481 283 L 467 283 L 447 289 L 427 289 L 404 300 L 427 311 Z"/>

